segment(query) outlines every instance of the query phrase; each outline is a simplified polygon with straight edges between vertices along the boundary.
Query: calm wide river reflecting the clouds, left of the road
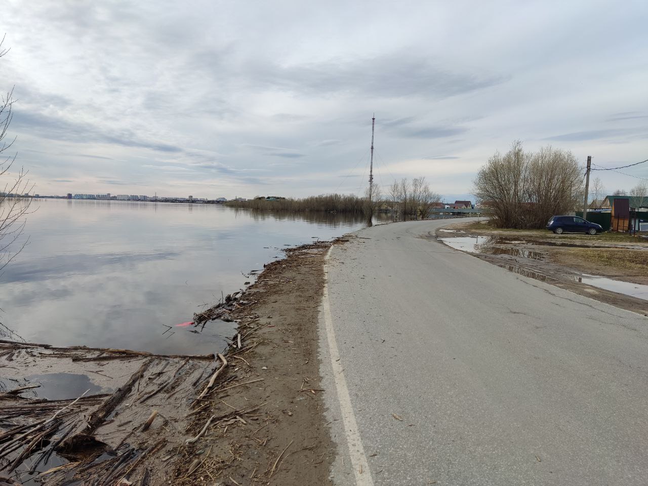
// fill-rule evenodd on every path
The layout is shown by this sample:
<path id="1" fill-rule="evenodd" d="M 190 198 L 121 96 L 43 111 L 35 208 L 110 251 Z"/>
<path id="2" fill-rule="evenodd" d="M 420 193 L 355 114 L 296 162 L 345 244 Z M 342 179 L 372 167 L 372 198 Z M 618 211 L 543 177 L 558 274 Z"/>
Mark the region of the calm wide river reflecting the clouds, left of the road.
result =
<path id="1" fill-rule="evenodd" d="M 213 322 L 202 334 L 176 325 L 243 288 L 251 281 L 244 274 L 281 257 L 281 248 L 365 226 L 349 216 L 220 205 L 34 200 L 34 207 L 30 243 L 0 276 L 0 338 L 152 353 L 220 351 L 231 323 Z"/>

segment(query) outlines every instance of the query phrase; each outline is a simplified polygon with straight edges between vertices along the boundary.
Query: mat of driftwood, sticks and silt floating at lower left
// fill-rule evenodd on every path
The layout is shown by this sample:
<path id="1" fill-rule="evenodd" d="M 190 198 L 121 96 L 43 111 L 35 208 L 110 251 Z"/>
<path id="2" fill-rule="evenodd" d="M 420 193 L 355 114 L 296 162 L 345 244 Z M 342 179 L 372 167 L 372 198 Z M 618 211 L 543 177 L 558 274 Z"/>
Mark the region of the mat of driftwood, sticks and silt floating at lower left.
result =
<path id="1" fill-rule="evenodd" d="M 40 386 L 26 379 L 40 371 L 31 369 L 34 364 L 45 373 L 61 369 L 75 375 L 78 369 L 110 393 L 100 388 L 95 395 L 86 391 L 63 400 L 42 399 L 38 391 L 23 397 L 23 391 Z M 162 458 L 175 457 L 178 446 L 200 439 L 194 424 L 200 423 L 202 435 L 209 429 L 209 415 L 200 407 L 192 411 L 195 397 L 235 378 L 221 379 L 227 367 L 223 354 L 159 355 L 6 340 L 0 340 L 2 365 L 25 382 L 0 393 L 0 474 L 38 474 L 52 486 L 72 479 L 94 486 L 157 484 L 168 469 Z M 93 389 L 96 393 L 97 386 Z M 52 467 L 53 456 L 72 462 Z"/>

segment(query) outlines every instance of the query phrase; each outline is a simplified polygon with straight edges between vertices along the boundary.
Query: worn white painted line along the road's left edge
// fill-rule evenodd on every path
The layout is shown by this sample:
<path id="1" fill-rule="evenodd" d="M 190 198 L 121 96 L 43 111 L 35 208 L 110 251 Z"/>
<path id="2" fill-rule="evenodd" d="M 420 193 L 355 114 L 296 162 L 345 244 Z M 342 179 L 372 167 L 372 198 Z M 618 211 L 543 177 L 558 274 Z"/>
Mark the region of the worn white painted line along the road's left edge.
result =
<path id="1" fill-rule="evenodd" d="M 325 257 L 325 263 L 329 262 L 330 251 L 333 249 L 331 246 Z M 322 310 L 324 316 L 325 329 L 327 334 L 327 341 L 329 343 L 329 356 L 330 364 L 333 367 L 333 379 L 338 391 L 338 401 L 340 402 L 340 412 L 342 421 L 344 422 L 344 430 L 347 435 L 347 444 L 349 445 L 349 456 L 351 456 L 351 465 L 353 465 L 353 472 L 356 476 L 356 485 L 358 486 L 373 486 L 373 478 L 371 478 L 371 470 L 369 463 L 367 463 L 367 456 L 364 453 L 362 446 L 362 439 L 358 431 L 358 424 L 356 416 L 353 413 L 351 406 L 351 396 L 349 395 L 349 388 L 347 388 L 347 379 L 344 376 L 340 351 L 338 351 L 338 343 L 335 339 L 335 330 L 333 329 L 333 321 L 330 317 L 330 303 L 329 303 L 329 277 L 324 273 L 324 293 L 322 296 Z"/>

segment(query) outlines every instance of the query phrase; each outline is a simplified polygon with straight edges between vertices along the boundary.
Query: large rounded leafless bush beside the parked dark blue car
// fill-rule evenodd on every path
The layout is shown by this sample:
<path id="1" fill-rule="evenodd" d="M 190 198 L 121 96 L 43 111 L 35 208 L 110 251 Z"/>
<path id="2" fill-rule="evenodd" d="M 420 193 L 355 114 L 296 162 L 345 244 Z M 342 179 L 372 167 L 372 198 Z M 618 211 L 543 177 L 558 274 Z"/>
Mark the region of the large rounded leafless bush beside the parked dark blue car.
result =
<path id="1" fill-rule="evenodd" d="M 515 141 L 478 172 L 474 194 L 497 227 L 542 228 L 554 214 L 582 205 L 584 172 L 572 152 L 547 146 L 526 152 Z"/>

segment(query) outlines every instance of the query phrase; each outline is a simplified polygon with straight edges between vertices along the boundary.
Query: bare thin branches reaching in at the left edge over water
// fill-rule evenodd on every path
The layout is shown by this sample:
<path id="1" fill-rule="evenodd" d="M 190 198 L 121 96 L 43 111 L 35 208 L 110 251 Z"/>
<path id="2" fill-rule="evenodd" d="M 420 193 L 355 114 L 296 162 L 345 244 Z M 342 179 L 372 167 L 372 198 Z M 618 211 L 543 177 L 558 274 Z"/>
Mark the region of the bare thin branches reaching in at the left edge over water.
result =
<path id="1" fill-rule="evenodd" d="M 5 41 L 0 41 L 0 58 L 9 49 L 3 49 Z M 13 117 L 12 106 L 14 104 L 14 90 L 11 89 L 0 97 L 0 178 L 8 178 L 0 191 L 0 271 L 5 268 L 16 255 L 25 248 L 29 238 L 21 238 L 25 231 L 29 213 L 29 206 L 32 202 L 30 192 L 33 185 L 27 179 L 27 172 L 20 168 L 12 172 L 17 154 L 10 153 L 16 137 L 6 140 L 7 131 Z M 3 179 L 0 179 L 3 180 Z"/>

